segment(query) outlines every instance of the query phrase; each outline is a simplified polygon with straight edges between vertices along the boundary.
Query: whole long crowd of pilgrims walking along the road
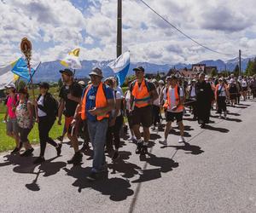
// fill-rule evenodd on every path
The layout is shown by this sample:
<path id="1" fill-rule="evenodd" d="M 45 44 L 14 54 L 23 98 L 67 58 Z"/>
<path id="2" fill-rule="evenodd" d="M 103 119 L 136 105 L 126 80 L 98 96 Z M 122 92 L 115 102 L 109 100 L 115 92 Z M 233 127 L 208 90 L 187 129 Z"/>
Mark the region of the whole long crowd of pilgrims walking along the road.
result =
<path id="1" fill-rule="evenodd" d="M 36 100 L 29 97 L 26 88 L 16 89 L 15 84 L 10 83 L 6 87 L 8 96 L 4 120 L 7 135 L 16 142 L 11 154 L 32 156 L 34 149 L 28 135 L 38 123 L 40 154 L 33 163 L 44 163 L 47 143 L 54 146 L 57 156 L 60 156 L 62 141 L 67 135 L 74 149 L 74 155 L 67 164 L 80 164 L 83 152 L 89 150 L 91 144 L 93 164 L 87 178 L 95 181 L 99 173 L 108 170 L 105 152 L 109 153 L 113 161 L 121 158 L 121 131 L 130 135 L 127 141 L 137 145 L 135 153 L 145 155 L 148 152 L 150 128 L 158 132 L 164 126 L 164 138 L 159 142 L 167 145 L 170 130 L 173 125 L 177 125 L 180 130 L 178 141 L 185 142 L 184 114 L 191 113 L 193 120 L 201 128 L 206 128 L 212 110 L 218 113 L 218 118 L 226 119 L 227 105 L 236 107 L 240 101 L 256 97 L 255 76 L 236 78 L 231 74 L 227 78 L 211 78 L 204 72 L 198 72 L 195 78 L 190 79 L 171 75 L 156 80 L 145 79 L 142 66 L 135 68 L 134 72 L 136 78 L 129 82 L 129 89 L 125 93 L 119 87 L 117 78 L 103 78 L 99 68 L 90 72 L 87 85 L 75 81 L 71 70 L 61 70 L 64 84 L 59 98 L 49 93 L 49 83 L 39 83 Z M 49 137 L 49 131 L 55 124 L 62 125 L 63 115 L 63 131 L 57 140 L 53 140 Z M 80 148 L 79 138 L 84 140 Z"/>

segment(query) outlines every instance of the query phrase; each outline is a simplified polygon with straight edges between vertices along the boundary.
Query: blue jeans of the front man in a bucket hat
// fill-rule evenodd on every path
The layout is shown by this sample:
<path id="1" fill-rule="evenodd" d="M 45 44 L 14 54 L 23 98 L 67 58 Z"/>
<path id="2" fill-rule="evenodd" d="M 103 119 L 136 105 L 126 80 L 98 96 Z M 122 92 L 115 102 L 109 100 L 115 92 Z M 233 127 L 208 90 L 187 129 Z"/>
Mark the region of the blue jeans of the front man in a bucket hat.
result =
<path id="1" fill-rule="evenodd" d="M 102 170 L 102 165 L 106 162 L 104 147 L 108 130 L 108 119 L 101 121 L 88 120 L 88 131 L 90 142 L 93 148 L 93 170 Z"/>

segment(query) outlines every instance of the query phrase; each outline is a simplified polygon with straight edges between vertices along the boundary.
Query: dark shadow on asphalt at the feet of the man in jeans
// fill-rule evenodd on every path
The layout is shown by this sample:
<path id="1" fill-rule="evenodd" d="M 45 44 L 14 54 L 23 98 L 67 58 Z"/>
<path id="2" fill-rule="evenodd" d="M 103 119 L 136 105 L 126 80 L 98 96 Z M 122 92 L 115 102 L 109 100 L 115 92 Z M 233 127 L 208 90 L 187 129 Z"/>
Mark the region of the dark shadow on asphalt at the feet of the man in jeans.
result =
<path id="1" fill-rule="evenodd" d="M 102 176 L 106 174 L 102 180 L 96 182 L 87 181 L 86 176 L 90 173 L 90 167 L 74 166 L 70 170 L 67 168 L 63 168 L 63 170 L 67 172 L 67 176 L 73 176 L 77 179 L 72 185 L 79 188 L 79 193 L 84 188 L 90 187 L 103 195 L 108 195 L 109 199 L 113 201 L 125 200 L 134 193 L 130 188 L 130 181 L 118 177 L 108 179 L 108 173 L 102 173 Z"/>

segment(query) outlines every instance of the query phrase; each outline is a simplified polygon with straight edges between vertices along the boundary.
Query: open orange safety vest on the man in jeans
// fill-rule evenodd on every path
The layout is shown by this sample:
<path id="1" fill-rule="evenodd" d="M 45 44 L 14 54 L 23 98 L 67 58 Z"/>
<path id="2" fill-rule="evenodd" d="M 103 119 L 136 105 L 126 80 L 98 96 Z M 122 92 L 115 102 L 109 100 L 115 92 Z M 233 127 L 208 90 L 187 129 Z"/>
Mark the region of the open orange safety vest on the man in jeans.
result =
<path id="1" fill-rule="evenodd" d="M 85 93 L 84 93 L 84 98 L 83 98 L 82 107 L 81 107 L 82 120 L 86 120 L 86 98 L 91 87 L 92 85 L 90 84 L 90 86 L 85 90 Z M 108 101 L 107 101 L 106 95 L 104 94 L 103 83 L 100 83 L 98 90 L 96 92 L 96 108 L 107 107 L 107 105 L 108 105 Z M 107 114 L 97 116 L 98 121 L 104 118 L 109 118 L 109 114 L 107 113 Z"/>

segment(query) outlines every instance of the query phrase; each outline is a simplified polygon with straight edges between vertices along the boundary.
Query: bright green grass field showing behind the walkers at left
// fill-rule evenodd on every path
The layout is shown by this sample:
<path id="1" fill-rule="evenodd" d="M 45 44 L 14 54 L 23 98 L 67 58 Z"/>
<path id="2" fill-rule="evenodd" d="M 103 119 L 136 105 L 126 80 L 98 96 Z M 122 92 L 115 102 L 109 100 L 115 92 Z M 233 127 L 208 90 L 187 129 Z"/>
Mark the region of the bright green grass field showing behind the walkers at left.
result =
<path id="1" fill-rule="evenodd" d="M 124 92 L 127 88 L 123 88 Z M 57 98 L 59 91 L 57 87 L 51 88 L 50 93 Z M 30 90 L 30 95 L 32 97 L 32 91 Z M 38 96 L 38 89 L 35 89 L 35 95 Z M 0 103 L 0 152 L 11 150 L 15 147 L 15 140 L 10 138 L 8 135 L 6 135 L 6 124 L 3 123 L 4 113 L 6 112 L 6 108 L 3 106 L 3 103 Z M 62 126 L 64 124 L 63 117 L 62 117 Z M 59 126 L 57 122 L 55 122 L 55 125 L 53 126 L 52 130 L 50 131 L 50 136 L 52 138 L 57 138 L 61 135 L 62 132 L 62 126 Z M 34 125 L 34 128 L 32 129 L 29 140 L 32 144 L 37 144 L 39 142 L 39 136 L 38 136 L 38 124 Z"/>

